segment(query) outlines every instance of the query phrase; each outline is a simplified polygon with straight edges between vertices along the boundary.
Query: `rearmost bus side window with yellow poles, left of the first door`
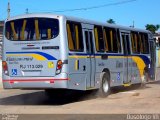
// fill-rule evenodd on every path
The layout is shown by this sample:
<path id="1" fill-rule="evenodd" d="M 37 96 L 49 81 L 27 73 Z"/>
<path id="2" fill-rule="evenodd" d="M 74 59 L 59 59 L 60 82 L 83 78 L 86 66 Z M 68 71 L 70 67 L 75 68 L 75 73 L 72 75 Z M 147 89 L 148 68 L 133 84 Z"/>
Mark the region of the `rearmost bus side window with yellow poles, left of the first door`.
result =
<path id="1" fill-rule="evenodd" d="M 82 27 L 80 23 L 67 21 L 68 47 L 70 51 L 83 52 Z"/>

